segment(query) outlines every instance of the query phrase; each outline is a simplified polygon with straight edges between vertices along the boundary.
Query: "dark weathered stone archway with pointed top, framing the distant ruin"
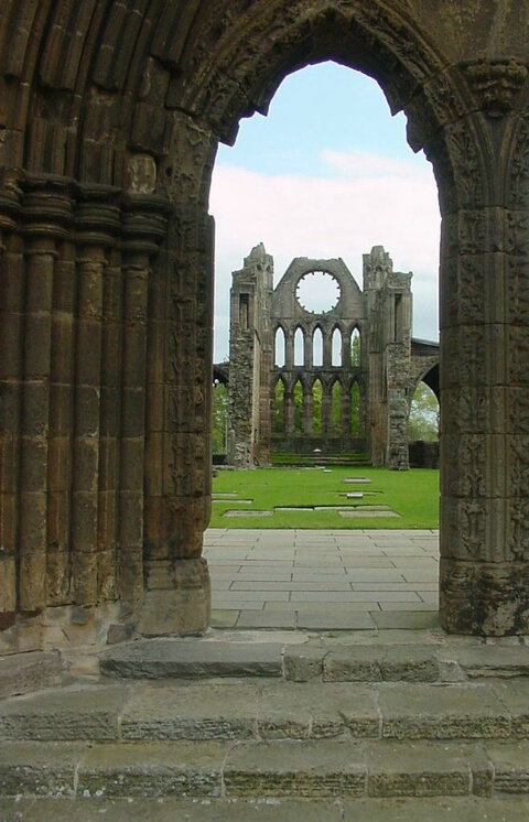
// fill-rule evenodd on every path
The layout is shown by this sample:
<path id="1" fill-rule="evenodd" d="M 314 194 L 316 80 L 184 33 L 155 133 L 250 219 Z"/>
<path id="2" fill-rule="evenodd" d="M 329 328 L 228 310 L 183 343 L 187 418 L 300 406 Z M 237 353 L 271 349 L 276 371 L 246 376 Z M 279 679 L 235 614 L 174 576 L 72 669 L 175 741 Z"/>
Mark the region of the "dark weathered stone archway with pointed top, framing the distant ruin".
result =
<path id="1" fill-rule="evenodd" d="M 528 14 L 4 3 L 4 648 L 206 627 L 215 148 L 327 58 L 379 82 L 439 183 L 443 625 L 527 632 Z"/>

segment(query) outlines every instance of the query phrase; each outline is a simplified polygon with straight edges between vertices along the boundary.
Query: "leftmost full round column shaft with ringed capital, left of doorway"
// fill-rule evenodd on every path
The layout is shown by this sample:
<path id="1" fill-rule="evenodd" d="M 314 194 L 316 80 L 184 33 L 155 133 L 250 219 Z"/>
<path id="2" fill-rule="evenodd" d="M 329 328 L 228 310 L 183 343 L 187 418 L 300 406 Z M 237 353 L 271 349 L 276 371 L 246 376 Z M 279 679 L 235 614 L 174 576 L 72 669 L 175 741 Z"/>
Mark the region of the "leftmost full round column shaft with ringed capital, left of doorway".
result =
<path id="1" fill-rule="evenodd" d="M 73 219 L 64 181 L 25 180 L 25 328 L 20 463 L 19 609 L 40 612 L 48 599 L 48 436 L 52 309 L 57 241 Z"/>

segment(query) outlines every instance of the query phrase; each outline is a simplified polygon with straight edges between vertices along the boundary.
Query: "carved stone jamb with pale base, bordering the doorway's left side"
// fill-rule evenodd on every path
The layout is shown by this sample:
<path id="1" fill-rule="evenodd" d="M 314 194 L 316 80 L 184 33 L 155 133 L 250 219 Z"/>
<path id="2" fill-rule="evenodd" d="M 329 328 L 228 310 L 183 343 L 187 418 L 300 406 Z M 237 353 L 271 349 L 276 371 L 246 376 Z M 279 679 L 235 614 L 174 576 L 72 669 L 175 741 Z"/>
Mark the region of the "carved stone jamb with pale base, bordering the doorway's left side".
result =
<path id="1" fill-rule="evenodd" d="M 151 285 L 144 635 L 199 634 L 210 614 L 201 554 L 210 500 L 213 223 L 199 208 L 172 217 L 170 251 Z"/>

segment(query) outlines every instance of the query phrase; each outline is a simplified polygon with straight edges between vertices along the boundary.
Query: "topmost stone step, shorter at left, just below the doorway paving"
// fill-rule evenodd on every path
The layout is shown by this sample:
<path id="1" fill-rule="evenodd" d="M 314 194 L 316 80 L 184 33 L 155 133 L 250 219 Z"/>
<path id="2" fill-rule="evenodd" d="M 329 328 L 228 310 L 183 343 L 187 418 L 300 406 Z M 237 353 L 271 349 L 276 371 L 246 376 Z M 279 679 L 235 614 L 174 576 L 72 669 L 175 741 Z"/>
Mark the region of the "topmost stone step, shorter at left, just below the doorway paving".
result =
<path id="1" fill-rule="evenodd" d="M 281 642 L 140 640 L 100 655 L 117 679 L 278 677 L 296 682 L 452 682 L 529 675 L 526 645 L 339 645 L 321 638 Z"/>

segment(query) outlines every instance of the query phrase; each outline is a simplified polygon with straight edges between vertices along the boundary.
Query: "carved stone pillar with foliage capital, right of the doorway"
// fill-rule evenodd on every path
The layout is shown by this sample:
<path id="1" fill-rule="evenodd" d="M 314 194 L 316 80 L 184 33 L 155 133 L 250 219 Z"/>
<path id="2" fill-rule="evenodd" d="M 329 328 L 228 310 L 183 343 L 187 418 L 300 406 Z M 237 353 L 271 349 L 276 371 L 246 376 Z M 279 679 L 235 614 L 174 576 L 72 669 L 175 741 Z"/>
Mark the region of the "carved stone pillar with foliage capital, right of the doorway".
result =
<path id="1" fill-rule="evenodd" d="M 451 632 L 529 629 L 529 129 L 514 61 L 465 76 L 447 129 L 441 260 L 440 613 Z M 509 113 L 510 112 L 510 113 Z"/>

